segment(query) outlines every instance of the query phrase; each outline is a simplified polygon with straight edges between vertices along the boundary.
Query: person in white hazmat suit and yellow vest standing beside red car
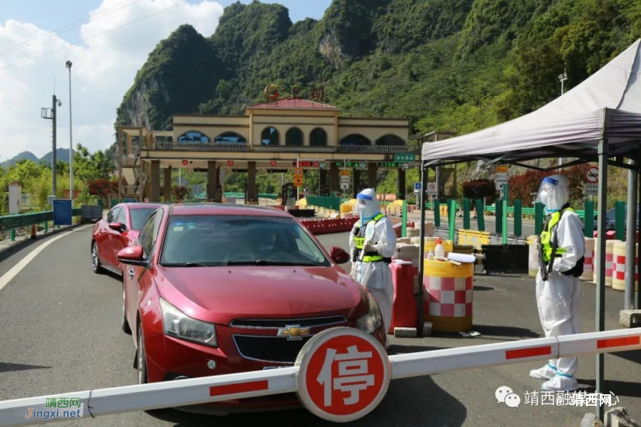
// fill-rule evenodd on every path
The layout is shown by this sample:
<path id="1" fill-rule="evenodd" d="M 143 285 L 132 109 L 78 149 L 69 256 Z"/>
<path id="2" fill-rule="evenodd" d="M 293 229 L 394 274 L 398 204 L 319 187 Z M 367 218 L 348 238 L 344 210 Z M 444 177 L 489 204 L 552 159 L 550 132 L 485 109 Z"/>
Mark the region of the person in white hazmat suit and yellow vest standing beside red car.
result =
<path id="1" fill-rule="evenodd" d="M 386 344 L 390 346 L 387 331 L 392 322 L 394 285 L 389 264 L 396 251 L 396 234 L 392 221 L 380 213 L 376 192 L 365 189 L 356 196 L 357 221 L 350 233 L 350 251 L 353 253 L 351 277 L 370 291 L 377 302 L 385 328 Z"/>

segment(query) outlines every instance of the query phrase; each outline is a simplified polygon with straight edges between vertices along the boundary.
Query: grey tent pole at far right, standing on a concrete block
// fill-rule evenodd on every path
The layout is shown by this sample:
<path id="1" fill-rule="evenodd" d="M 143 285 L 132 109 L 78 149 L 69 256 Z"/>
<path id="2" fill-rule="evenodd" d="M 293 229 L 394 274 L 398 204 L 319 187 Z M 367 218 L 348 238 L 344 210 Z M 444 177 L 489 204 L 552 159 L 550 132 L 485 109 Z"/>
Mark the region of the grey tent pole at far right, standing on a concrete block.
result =
<path id="1" fill-rule="evenodd" d="M 635 167 L 637 162 L 630 159 L 629 164 Z M 635 258 L 636 258 L 636 223 L 637 223 L 637 171 L 627 171 L 627 233 L 625 237 L 625 293 L 623 310 L 635 309 Z"/>

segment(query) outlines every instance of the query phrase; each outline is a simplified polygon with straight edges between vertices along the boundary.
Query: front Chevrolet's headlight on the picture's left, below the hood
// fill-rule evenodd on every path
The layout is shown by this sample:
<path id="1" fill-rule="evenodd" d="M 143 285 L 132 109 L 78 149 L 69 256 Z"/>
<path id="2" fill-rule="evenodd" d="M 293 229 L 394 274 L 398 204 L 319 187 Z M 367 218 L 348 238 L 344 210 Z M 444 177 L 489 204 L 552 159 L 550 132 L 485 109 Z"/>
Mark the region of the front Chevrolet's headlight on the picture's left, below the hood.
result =
<path id="1" fill-rule="evenodd" d="M 165 335 L 218 347 L 216 328 L 211 323 L 192 319 L 162 298 L 160 298 L 160 312 L 162 312 L 162 332 Z"/>

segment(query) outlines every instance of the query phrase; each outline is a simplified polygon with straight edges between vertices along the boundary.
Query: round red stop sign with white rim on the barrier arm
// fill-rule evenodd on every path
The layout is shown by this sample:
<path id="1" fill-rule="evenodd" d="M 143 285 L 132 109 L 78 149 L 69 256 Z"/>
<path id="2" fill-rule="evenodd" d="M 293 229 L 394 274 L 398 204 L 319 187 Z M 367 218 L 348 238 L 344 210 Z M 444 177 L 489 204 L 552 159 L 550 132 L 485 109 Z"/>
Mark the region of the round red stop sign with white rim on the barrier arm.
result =
<path id="1" fill-rule="evenodd" d="M 296 359 L 298 399 L 316 416 L 347 422 L 372 411 L 390 385 L 390 360 L 370 334 L 349 327 L 310 339 Z"/>

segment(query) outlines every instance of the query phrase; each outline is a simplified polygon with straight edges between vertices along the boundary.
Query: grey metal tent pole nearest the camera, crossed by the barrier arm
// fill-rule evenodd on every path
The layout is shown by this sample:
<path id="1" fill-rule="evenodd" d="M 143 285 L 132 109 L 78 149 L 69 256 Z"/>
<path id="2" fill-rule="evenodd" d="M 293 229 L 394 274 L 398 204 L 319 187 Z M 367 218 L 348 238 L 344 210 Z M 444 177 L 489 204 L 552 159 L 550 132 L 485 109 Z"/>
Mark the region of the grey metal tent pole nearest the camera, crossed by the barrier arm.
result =
<path id="1" fill-rule="evenodd" d="M 608 209 L 608 139 L 599 141 L 599 193 L 598 193 L 598 248 L 599 274 L 596 292 L 596 331 L 605 330 L 605 211 Z M 605 379 L 605 359 L 603 353 L 596 355 L 596 393 L 603 392 Z M 601 405 L 595 408 L 596 416 L 605 421 L 604 408 Z"/>

